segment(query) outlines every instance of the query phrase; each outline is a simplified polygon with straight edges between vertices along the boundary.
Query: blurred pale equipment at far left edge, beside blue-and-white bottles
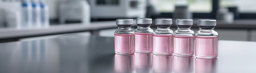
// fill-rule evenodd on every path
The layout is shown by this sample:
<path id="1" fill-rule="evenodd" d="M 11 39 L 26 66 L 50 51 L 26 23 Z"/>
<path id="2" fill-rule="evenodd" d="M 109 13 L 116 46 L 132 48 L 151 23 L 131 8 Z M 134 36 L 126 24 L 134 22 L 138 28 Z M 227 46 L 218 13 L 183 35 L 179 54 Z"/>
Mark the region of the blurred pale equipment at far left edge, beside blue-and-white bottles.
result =
<path id="1" fill-rule="evenodd" d="M 19 28 L 21 24 L 21 4 L 17 1 L 0 2 L 0 27 Z"/>

